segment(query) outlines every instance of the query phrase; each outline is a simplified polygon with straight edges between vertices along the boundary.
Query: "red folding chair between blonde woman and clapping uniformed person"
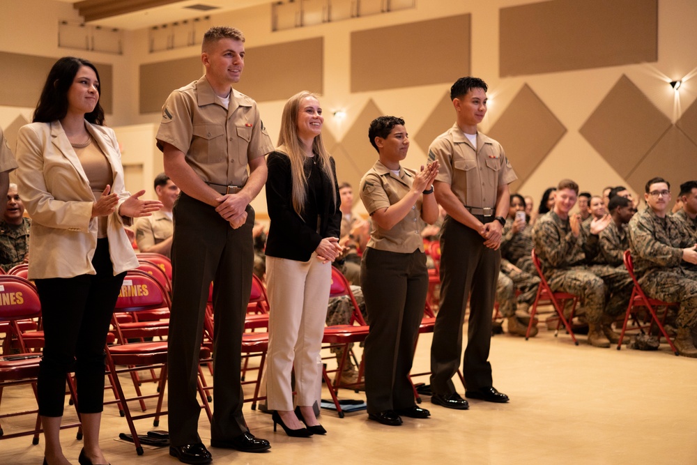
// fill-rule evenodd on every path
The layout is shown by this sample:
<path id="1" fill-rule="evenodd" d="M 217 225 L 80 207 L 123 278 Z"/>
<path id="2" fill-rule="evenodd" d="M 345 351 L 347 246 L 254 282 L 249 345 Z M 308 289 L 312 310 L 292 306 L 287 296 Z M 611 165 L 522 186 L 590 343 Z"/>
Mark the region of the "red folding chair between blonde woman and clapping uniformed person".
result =
<path id="1" fill-rule="evenodd" d="M 346 358 L 353 356 L 353 352 L 350 349 L 351 343 L 362 342 L 368 335 L 368 326 L 363 319 L 363 315 L 360 313 L 360 308 L 358 303 L 351 292 L 351 284 L 348 283 L 346 277 L 341 271 L 332 266 L 332 287 L 329 292 L 330 297 L 338 296 L 348 296 L 353 305 L 353 312 L 351 313 L 351 321 L 348 325 L 336 325 L 336 326 L 326 326 L 324 328 L 324 336 L 322 338 L 323 344 L 328 344 L 323 346 L 324 349 L 330 347 L 344 347 L 341 360 L 337 364 L 337 369 L 327 369 L 325 366 L 322 368 L 322 376 L 324 378 L 327 387 L 329 388 L 329 393 L 332 397 L 332 402 L 337 408 L 337 413 L 339 418 L 344 418 L 344 411 L 342 411 L 341 404 L 339 404 L 339 399 L 337 398 L 337 393 L 339 388 L 357 388 L 360 386 L 361 379 L 363 376 L 363 364 L 358 363 L 356 360 L 356 365 L 358 365 L 358 381 L 351 384 L 342 384 L 340 374 L 344 371 L 344 365 L 346 365 Z M 355 360 L 355 356 L 353 356 Z M 330 381 L 329 373 L 335 373 L 334 382 Z"/>

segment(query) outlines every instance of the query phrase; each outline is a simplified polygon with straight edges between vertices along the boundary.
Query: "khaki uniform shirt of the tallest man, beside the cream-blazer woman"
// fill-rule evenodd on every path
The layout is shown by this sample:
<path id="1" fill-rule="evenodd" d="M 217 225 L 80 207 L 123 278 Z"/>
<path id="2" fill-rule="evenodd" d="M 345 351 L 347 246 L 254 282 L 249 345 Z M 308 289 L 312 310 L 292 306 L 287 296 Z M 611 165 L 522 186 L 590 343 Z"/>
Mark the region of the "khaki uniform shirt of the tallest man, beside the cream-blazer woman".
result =
<path id="1" fill-rule="evenodd" d="M 173 145 L 201 179 L 221 185 L 245 185 L 249 160 L 273 151 L 256 102 L 231 89 L 225 109 L 206 76 L 169 94 L 156 138 L 160 150 Z"/>

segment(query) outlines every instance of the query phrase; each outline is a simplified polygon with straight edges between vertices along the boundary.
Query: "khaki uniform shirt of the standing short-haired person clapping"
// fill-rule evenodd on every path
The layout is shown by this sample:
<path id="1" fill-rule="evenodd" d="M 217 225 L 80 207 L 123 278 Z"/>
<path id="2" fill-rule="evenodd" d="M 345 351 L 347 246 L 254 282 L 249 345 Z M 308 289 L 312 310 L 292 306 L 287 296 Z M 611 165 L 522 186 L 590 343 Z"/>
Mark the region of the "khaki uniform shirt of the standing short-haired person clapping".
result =
<path id="1" fill-rule="evenodd" d="M 414 183 L 413 171 L 399 168 L 399 176 L 385 167 L 380 160 L 360 180 L 360 199 L 367 212 L 372 215 L 376 210 L 396 204 L 411 190 Z M 424 251 L 421 230 L 425 223 L 421 219 L 423 198 L 419 197 L 411 211 L 392 229 L 383 229 L 373 222 L 367 247 L 388 252 L 411 254 L 415 250 Z"/>

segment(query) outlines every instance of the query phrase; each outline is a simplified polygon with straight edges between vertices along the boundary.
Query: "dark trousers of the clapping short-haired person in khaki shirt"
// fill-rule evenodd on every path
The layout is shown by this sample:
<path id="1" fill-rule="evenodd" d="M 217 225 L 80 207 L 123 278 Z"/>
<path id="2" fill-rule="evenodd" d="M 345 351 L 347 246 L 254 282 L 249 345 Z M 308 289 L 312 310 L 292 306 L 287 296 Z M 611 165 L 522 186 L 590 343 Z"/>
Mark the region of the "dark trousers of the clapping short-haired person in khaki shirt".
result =
<path id="1" fill-rule="evenodd" d="M 360 281 L 370 327 L 365 340 L 368 413 L 414 406 L 408 374 L 429 286 L 426 255 L 368 247 Z"/>

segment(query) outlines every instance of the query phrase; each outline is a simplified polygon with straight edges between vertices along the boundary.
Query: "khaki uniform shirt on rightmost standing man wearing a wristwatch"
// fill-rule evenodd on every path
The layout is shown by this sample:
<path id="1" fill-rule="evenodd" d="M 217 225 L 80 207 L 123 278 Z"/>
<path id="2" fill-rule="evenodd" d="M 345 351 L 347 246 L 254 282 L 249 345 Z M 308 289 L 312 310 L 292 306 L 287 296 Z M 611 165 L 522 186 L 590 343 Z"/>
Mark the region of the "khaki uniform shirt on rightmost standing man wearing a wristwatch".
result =
<path id="1" fill-rule="evenodd" d="M 464 206 L 496 208 L 498 186 L 518 178 L 501 144 L 477 132 L 475 148 L 457 123 L 431 142 L 429 160 L 436 159 L 441 164 L 436 181 L 450 184 Z"/>

